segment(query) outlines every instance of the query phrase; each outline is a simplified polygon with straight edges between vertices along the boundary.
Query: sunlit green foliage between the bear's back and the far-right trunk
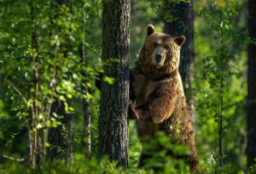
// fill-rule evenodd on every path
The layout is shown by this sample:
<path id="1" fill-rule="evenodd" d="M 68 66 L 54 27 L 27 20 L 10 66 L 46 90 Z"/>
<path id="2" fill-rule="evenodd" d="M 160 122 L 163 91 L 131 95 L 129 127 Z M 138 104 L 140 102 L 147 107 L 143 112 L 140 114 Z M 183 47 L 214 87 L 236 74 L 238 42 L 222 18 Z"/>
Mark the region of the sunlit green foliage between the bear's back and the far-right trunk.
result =
<path id="1" fill-rule="evenodd" d="M 231 163 L 245 167 L 247 86 L 242 67 L 247 36 L 244 25 L 237 25 L 242 5 L 241 1 L 210 1 L 198 6 L 200 17 L 195 20 L 195 104 L 200 127 L 196 139 L 204 143 L 199 148 L 202 158 L 214 156 L 216 167 L 224 165 L 218 172 L 234 167 Z M 219 138 L 223 156 L 219 156 Z"/>

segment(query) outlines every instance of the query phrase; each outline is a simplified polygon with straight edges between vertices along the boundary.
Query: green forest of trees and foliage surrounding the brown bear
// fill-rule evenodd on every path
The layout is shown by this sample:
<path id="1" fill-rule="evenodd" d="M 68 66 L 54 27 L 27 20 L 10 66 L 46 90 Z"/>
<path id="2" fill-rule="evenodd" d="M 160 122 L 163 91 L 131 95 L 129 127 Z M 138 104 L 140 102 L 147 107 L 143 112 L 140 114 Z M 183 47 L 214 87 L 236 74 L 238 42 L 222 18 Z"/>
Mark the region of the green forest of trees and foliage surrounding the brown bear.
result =
<path id="1" fill-rule="evenodd" d="M 200 172 L 256 172 L 255 9 L 253 0 L 0 0 L 0 173 L 190 172 L 164 151 L 137 169 L 142 146 L 120 81 L 148 24 L 187 37 L 180 72 Z M 113 152 L 112 131 L 127 141 Z M 169 147 L 161 132 L 155 141 Z"/>

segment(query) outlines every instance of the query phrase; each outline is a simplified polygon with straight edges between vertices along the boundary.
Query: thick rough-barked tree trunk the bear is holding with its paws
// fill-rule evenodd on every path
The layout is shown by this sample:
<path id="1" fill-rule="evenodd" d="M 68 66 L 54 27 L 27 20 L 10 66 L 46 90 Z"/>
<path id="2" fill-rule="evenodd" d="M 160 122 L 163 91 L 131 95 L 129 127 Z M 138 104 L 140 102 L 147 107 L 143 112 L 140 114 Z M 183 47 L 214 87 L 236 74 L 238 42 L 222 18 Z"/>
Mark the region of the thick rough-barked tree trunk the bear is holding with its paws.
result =
<path id="1" fill-rule="evenodd" d="M 103 1 L 102 61 L 105 63 L 99 118 L 99 156 L 128 167 L 129 42 L 131 1 Z M 104 77 L 113 77 L 109 84 Z"/>

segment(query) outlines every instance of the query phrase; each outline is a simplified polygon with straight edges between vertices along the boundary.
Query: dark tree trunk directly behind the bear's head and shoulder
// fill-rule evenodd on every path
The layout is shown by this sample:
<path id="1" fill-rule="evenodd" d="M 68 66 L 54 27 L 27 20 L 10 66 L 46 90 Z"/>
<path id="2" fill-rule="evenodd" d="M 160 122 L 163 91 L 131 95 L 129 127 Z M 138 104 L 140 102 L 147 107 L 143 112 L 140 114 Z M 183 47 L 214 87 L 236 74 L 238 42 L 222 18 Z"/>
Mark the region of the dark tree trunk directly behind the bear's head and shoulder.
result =
<path id="1" fill-rule="evenodd" d="M 194 81 L 194 13 L 193 0 L 190 3 L 166 1 L 166 11 L 172 14 L 172 21 L 165 21 L 164 32 L 171 36 L 186 36 L 180 55 L 179 71 L 183 80 L 184 92 L 194 121 L 195 107 L 192 82 Z"/>

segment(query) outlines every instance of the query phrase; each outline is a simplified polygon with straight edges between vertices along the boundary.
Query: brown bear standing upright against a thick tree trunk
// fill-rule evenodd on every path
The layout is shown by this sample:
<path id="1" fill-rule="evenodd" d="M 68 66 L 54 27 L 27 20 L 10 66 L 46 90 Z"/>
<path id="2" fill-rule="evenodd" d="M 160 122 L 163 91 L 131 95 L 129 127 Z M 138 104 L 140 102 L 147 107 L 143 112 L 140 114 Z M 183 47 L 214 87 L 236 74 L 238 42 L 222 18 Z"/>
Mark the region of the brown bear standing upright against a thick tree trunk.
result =
<path id="1" fill-rule="evenodd" d="M 183 83 L 178 72 L 180 49 L 185 36 L 172 37 L 155 32 L 148 25 L 135 67 L 131 69 L 130 116 L 136 119 L 137 134 L 154 138 L 157 131 L 166 132 L 170 143 L 187 144 L 190 155 L 186 157 L 193 171 L 198 171 L 198 155 L 191 116 L 183 93 Z M 136 102 L 136 108 L 134 106 Z M 139 167 L 147 158 L 141 155 Z"/>

